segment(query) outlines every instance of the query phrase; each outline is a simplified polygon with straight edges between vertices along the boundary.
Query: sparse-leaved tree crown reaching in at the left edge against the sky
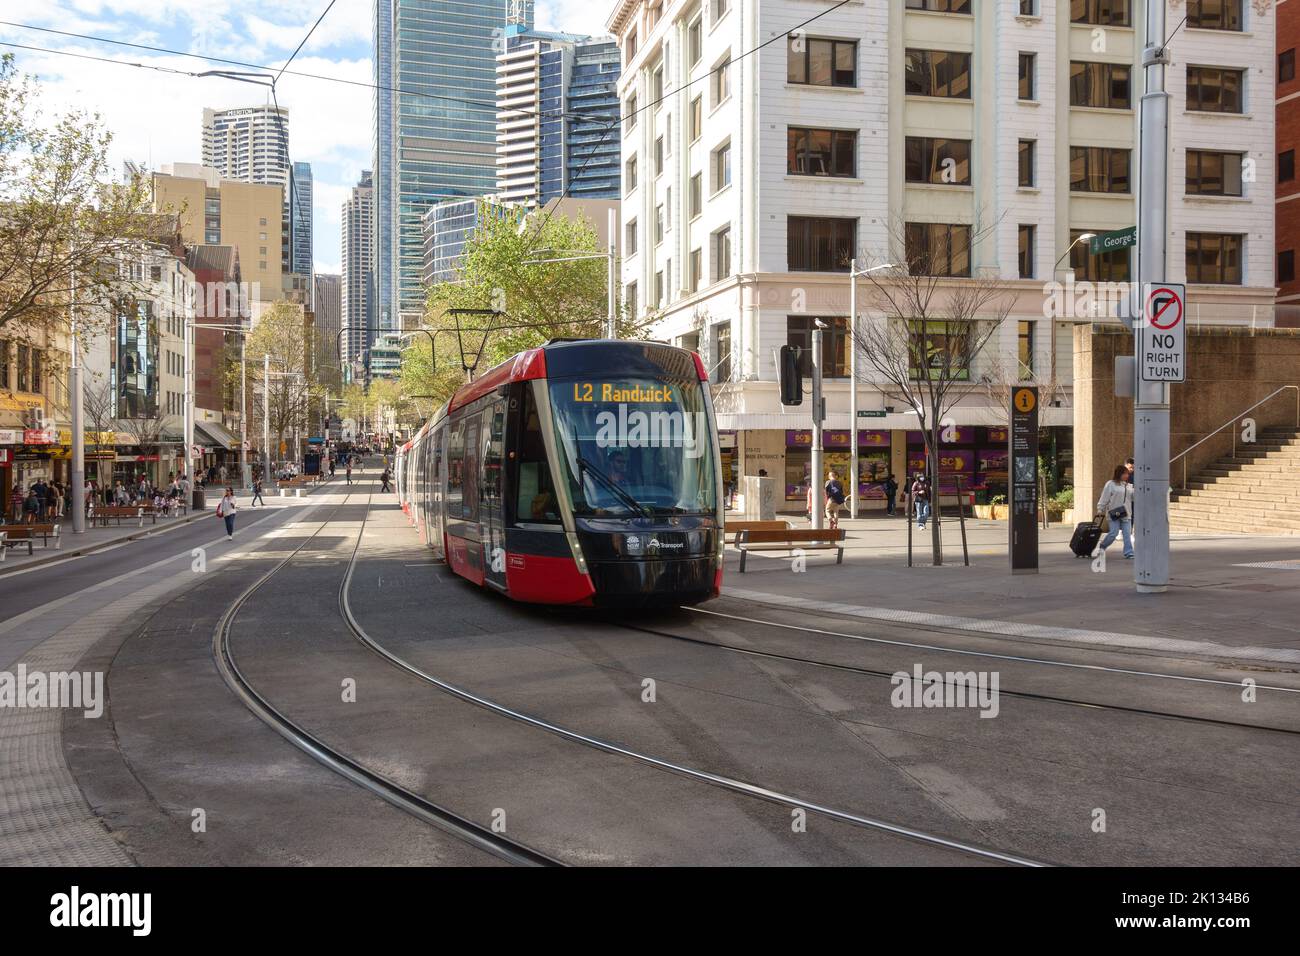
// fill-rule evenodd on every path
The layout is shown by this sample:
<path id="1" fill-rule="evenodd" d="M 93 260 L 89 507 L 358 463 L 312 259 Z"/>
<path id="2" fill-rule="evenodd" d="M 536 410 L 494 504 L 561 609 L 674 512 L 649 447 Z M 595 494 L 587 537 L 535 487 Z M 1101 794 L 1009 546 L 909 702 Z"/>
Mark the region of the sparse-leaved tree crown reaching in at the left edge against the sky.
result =
<path id="1" fill-rule="evenodd" d="M 152 215 L 150 183 L 110 182 L 113 135 L 98 113 L 70 112 L 44 122 L 36 86 L 0 57 L 0 328 L 65 328 L 73 287 L 78 302 L 121 302 L 133 289 L 105 268 L 174 232 Z M 113 310 L 87 308 L 84 324 Z"/>

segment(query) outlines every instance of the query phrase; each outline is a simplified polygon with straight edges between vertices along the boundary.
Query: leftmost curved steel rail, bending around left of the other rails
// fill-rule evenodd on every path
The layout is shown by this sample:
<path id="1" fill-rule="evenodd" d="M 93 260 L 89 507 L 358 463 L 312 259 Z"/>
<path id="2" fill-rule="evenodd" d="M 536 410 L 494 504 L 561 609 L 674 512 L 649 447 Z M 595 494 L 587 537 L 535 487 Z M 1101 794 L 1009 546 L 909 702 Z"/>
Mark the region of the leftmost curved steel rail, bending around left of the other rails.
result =
<path id="1" fill-rule="evenodd" d="M 373 496 L 373 490 L 370 490 L 367 496 L 367 512 L 369 512 L 369 502 Z M 334 506 L 333 514 L 338 514 L 338 511 L 348 503 L 348 498 L 351 497 L 352 493 L 350 492 L 341 505 Z M 324 505 L 320 507 L 324 507 Z M 235 601 L 226 609 L 225 614 L 222 614 L 221 619 L 217 622 L 217 628 L 212 636 L 212 657 L 222 679 L 226 682 L 226 685 L 243 702 L 243 705 L 248 708 L 248 710 L 263 721 L 263 723 L 269 726 L 294 747 L 303 750 L 309 757 L 341 777 L 381 797 L 393 806 L 410 813 L 416 819 L 420 819 L 437 830 L 441 830 L 459 840 L 463 840 L 464 843 L 477 847 L 478 849 L 515 865 L 563 865 L 545 853 L 519 843 L 517 840 L 511 840 L 500 834 L 495 834 L 488 827 L 480 826 L 478 823 L 474 823 L 473 821 L 469 821 L 452 810 L 448 810 L 447 808 L 436 804 L 432 800 L 428 800 L 426 797 L 394 783 L 393 780 L 389 780 L 381 774 L 369 770 L 361 762 L 332 748 L 318 736 L 304 730 L 283 711 L 277 709 L 248 682 L 248 679 L 239 670 L 230 649 L 230 631 L 239 610 L 266 581 L 269 581 L 281 568 L 289 564 L 290 561 L 292 561 L 308 544 L 311 544 L 312 538 L 315 538 L 320 533 L 321 528 L 328 524 L 329 520 L 320 522 L 320 525 L 316 531 L 308 535 L 306 541 L 298 545 L 298 548 L 295 548 L 290 554 L 277 562 L 273 568 L 266 571 L 248 588 L 240 592 L 239 597 L 235 598 Z M 364 527 L 363 522 L 361 528 L 364 529 Z M 361 532 L 359 531 L 358 544 L 360 544 L 360 540 Z M 354 555 L 356 551 L 354 549 Z M 348 576 L 351 576 L 351 564 L 348 564 Z"/>

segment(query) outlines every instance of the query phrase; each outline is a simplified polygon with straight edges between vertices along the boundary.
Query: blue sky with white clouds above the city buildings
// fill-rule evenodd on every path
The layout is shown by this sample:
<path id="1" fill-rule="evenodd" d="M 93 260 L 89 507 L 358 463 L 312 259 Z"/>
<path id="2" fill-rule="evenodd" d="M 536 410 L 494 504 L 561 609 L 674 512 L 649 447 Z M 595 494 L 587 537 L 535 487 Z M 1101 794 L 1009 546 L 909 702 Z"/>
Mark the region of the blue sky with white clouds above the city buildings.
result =
<path id="1" fill-rule="evenodd" d="M 112 40 L 278 68 L 302 42 L 329 0 L 29 0 L 5 3 L 0 20 Z M 598 5 L 612 0 L 598 0 Z M 370 82 L 372 0 L 335 0 L 294 60 L 291 70 Z M 607 13 L 608 10 L 606 10 Z M 542 30 L 598 33 L 590 3 L 536 0 Z M 603 21 L 603 16 L 601 17 Z M 52 51 L 107 57 L 98 62 L 58 53 L 0 47 L 18 69 L 40 81 L 48 114 L 68 109 L 99 113 L 113 131 L 113 164 L 151 166 L 198 163 L 203 108 L 269 103 L 264 87 L 186 73 L 240 69 L 205 64 L 196 56 L 127 49 L 0 23 L 0 40 Z M 122 64 L 161 66 L 181 73 Z M 365 86 L 285 74 L 277 83 L 289 109 L 290 153 L 312 164 L 317 272 L 338 272 L 339 212 L 361 169 L 370 165 L 370 90 Z"/>

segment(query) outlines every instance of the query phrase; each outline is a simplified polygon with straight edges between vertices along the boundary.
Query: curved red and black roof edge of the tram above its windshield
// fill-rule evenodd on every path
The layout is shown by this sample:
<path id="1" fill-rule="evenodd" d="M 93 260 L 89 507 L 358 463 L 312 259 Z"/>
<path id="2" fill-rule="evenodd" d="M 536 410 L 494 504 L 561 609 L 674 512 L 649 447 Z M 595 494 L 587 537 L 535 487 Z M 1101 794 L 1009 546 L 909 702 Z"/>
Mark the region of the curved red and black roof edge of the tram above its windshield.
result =
<path id="1" fill-rule="evenodd" d="M 708 372 L 697 352 L 664 342 L 628 342 L 612 338 L 554 339 L 512 355 L 474 381 L 462 385 L 447 403 L 447 411 L 467 406 L 510 382 L 610 372 L 654 376 L 672 372 L 682 378 L 689 378 L 694 372 L 701 381 L 708 381 Z"/>

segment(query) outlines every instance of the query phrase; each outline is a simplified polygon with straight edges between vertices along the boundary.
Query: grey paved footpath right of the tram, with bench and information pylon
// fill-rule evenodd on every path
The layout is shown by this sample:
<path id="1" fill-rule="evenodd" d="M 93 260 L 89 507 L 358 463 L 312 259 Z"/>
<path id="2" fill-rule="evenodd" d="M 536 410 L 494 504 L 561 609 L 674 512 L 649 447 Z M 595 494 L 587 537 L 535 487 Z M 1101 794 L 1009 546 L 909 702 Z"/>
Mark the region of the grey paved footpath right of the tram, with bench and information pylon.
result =
<path id="1" fill-rule="evenodd" d="M 902 518 L 841 527 L 844 564 L 836 566 L 833 551 L 810 551 L 801 574 L 777 551 L 751 554 L 742 575 L 728 548 L 724 593 L 1034 641 L 1300 665 L 1300 536 L 1175 535 L 1169 591 L 1139 594 L 1118 542 L 1102 571 L 1070 553 L 1070 527 L 1040 531 L 1039 574 L 1028 575 L 1010 572 L 1005 522 L 967 520 L 970 567 L 962 564 L 956 518 L 942 524 L 941 567 L 931 564 L 928 529 L 922 540 L 915 525 L 915 566 L 907 567 Z"/>

